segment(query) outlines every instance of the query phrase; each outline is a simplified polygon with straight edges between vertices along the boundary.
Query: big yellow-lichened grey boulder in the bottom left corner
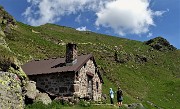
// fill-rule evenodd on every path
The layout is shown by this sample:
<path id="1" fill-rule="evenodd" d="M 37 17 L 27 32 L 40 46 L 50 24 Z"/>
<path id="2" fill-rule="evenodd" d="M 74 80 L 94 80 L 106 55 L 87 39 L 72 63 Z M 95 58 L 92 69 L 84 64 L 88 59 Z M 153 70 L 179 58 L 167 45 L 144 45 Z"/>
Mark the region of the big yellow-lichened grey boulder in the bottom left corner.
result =
<path id="1" fill-rule="evenodd" d="M 0 109 L 23 109 L 21 81 L 16 74 L 0 71 Z"/>

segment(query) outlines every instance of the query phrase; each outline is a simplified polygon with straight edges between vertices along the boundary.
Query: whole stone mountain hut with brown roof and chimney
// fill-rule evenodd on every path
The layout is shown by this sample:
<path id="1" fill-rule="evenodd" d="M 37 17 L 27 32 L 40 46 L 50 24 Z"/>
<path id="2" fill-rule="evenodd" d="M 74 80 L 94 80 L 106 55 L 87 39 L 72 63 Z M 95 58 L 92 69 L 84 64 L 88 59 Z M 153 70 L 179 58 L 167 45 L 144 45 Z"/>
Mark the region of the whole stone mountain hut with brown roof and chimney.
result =
<path id="1" fill-rule="evenodd" d="M 65 58 L 33 60 L 22 66 L 36 87 L 57 97 L 88 98 L 102 95 L 102 77 L 92 54 L 77 54 L 76 44 L 66 45 Z"/>

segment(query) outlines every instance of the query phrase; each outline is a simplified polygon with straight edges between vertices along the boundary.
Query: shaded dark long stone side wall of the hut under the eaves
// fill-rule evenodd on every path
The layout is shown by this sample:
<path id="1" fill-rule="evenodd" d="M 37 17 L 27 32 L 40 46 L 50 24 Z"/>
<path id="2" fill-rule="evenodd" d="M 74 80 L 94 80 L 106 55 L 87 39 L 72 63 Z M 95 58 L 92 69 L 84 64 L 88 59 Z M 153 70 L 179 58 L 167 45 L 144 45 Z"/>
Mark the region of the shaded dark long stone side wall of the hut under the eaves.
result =
<path id="1" fill-rule="evenodd" d="M 30 76 L 36 86 L 58 96 L 72 96 L 74 92 L 74 73 L 62 72 Z"/>

